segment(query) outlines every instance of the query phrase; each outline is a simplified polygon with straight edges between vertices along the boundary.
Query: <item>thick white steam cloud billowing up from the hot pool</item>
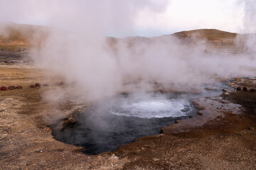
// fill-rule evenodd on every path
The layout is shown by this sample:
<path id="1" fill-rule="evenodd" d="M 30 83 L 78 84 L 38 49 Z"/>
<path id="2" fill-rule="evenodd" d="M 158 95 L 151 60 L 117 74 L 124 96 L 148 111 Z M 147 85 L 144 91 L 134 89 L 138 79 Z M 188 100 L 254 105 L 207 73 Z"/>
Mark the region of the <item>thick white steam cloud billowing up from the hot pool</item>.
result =
<path id="1" fill-rule="evenodd" d="M 252 36 L 245 41 L 238 38 L 237 45 L 244 46 L 240 52 L 213 49 L 207 40 L 197 37 L 192 42 L 174 35 L 107 38 L 113 30 L 120 37 L 134 35 L 134 19 L 139 12 L 163 13 L 169 1 L 4 2 L 6 9 L 0 16 L 12 19 L 21 15 L 29 20 L 34 15 L 53 27 L 31 57 L 40 67 L 65 77 L 65 82 L 73 86 L 73 95 L 87 101 L 120 91 L 149 91 L 156 84 L 162 89 L 191 91 L 216 79 L 255 76 Z M 14 6 L 11 15 L 7 9 L 15 3 L 27 10 Z M 245 18 L 253 18 L 252 1 L 243 3 Z M 242 29 L 255 31 L 254 24 L 247 21 Z"/>

